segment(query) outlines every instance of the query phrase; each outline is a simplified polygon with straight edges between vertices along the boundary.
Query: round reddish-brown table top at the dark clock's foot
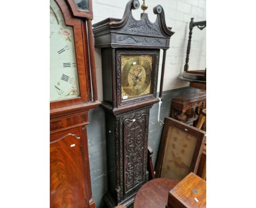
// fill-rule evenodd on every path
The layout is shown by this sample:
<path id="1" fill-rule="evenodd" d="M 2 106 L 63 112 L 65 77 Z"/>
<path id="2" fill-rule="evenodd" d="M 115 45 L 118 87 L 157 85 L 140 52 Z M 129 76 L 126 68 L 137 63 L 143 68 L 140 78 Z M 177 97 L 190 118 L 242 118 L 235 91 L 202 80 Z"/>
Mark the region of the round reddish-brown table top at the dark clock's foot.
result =
<path id="1" fill-rule="evenodd" d="M 165 208 L 168 193 L 178 182 L 165 178 L 148 181 L 136 194 L 133 208 Z"/>

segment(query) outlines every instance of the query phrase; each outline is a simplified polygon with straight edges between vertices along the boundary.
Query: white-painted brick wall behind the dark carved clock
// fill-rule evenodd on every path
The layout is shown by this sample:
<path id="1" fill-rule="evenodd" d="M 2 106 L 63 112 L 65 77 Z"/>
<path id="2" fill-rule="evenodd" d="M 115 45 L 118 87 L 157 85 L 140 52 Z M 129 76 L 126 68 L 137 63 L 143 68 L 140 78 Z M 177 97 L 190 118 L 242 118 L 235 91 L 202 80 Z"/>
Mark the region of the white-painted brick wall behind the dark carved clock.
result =
<path id="1" fill-rule="evenodd" d="M 115 17 L 121 19 L 124 14 L 125 6 L 128 0 L 92 0 L 94 10 L 94 20 L 92 23 L 99 22 L 108 17 Z M 142 0 L 139 1 L 141 4 Z M 170 48 L 166 54 L 166 66 L 165 66 L 165 78 L 164 78 L 164 91 L 181 87 L 187 87 L 188 82 L 184 82 L 178 78 L 183 71 L 185 63 L 185 53 L 187 51 L 188 44 L 188 26 L 191 17 L 195 17 L 194 21 L 206 20 L 206 0 L 146 0 L 148 4 L 147 13 L 150 21 L 154 22 L 156 15 L 153 13 L 153 8 L 160 4 L 164 8 L 166 24 L 168 27 L 172 27 L 175 34 L 171 37 Z M 141 9 L 133 10 L 133 16 L 135 19 L 140 18 Z M 196 30 L 196 29 L 194 29 Z M 193 32 L 194 32 L 193 30 Z M 206 31 L 206 29 L 205 29 Z M 195 32 L 196 33 L 196 32 Z M 195 36 L 193 36 L 194 38 Z M 193 69 L 196 69 L 196 65 L 203 65 L 206 63 L 206 57 L 201 57 L 201 53 L 205 54 L 205 38 L 193 39 L 191 47 L 200 48 L 203 50 L 199 53 L 193 53 L 191 51 L 191 64 Z M 194 44 L 194 45 L 193 45 Z M 162 54 L 162 53 L 161 53 Z M 193 57 L 195 56 L 195 57 Z M 197 56 L 197 57 L 196 57 Z M 96 58 L 96 72 L 97 72 L 97 87 L 98 87 L 98 99 L 102 101 L 102 74 L 101 74 L 101 50 L 95 48 Z M 162 57 L 160 57 L 161 60 Z M 190 62 L 189 62 L 190 63 Z M 159 66 L 161 71 L 161 62 Z M 159 74 L 159 84 L 160 84 Z M 158 84 L 158 91 L 159 91 Z"/>

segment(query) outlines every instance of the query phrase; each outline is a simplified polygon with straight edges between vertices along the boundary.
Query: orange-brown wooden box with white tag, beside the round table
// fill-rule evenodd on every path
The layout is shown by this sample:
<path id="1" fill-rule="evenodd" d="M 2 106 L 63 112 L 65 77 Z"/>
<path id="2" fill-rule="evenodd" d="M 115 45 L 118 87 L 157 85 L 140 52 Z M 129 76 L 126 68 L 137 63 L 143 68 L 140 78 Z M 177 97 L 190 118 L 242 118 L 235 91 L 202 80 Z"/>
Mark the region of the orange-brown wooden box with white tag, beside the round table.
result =
<path id="1" fill-rule="evenodd" d="M 188 174 L 168 195 L 167 208 L 205 208 L 206 181 L 194 173 Z"/>

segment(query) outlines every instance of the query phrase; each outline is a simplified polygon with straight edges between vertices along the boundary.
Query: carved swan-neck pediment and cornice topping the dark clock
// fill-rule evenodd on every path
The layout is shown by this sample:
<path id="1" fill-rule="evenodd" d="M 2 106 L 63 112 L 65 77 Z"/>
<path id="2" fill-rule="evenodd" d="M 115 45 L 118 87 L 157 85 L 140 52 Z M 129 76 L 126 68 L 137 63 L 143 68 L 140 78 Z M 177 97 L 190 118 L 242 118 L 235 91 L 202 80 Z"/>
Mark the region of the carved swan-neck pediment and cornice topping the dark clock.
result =
<path id="1" fill-rule="evenodd" d="M 123 19 L 108 18 L 92 25 L 95 47 L 168 49 L 174 32 L 166 26 L 162 6 L 157 5 L 153 9 L 157 15 L 154 23 L 148 19 L 147 13 L 142 13 L 141 19 L 136 20 L 132 9 L 138 8 L 138 0 L 131 0 L 126 4 Z"/>

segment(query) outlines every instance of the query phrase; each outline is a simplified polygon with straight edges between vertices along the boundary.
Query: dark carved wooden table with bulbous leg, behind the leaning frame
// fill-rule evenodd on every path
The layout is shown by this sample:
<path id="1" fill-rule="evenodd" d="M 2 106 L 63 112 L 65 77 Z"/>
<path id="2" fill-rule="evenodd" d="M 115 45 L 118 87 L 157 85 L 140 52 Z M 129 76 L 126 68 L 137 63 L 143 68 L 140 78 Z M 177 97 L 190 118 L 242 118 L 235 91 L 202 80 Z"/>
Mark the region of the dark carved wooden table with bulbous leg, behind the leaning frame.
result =
<path id="1" fill-rule="evenodd" d="M 193 125 L 198 118 L 196 107 L 206 107 L 206 90 L 174 97 L 171 103 L 171 118 Z"/>

